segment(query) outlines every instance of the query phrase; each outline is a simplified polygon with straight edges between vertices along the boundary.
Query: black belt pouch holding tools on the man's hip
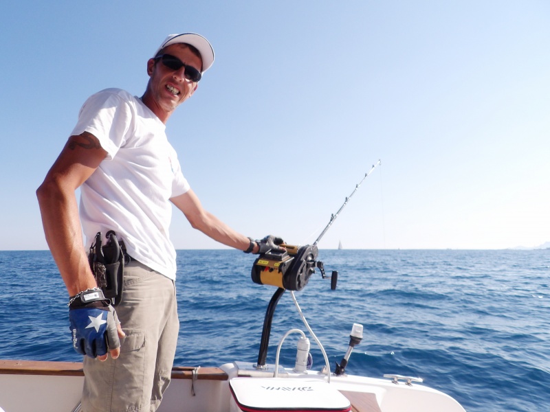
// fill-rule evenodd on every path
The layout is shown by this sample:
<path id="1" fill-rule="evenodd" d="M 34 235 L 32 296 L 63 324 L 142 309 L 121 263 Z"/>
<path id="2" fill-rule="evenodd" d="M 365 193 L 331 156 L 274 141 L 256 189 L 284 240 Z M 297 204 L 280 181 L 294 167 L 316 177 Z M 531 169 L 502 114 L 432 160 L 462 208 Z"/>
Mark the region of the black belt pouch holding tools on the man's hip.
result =
<path id="1" fill-rule="evenodd" d="M 122 301 L 124 251 L 114 231 L 108 231 L 105 238 L 107 242 L 102 244 L 101 232 L 96 234 L 88 255 L 89 264 L 98 287 L 107 299 L 111 299 L 113 306 L 117 306 Z"/>

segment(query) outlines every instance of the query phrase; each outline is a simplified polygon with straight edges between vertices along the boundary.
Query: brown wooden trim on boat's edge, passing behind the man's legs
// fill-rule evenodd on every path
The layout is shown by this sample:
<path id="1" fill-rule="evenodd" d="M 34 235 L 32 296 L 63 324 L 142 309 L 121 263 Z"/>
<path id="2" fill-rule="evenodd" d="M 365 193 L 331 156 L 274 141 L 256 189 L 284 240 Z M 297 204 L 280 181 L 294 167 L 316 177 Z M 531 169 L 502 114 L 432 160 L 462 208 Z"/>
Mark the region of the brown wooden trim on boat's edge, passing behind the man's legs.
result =
<path id="1" fill-rule="evenodd" d="M 175 366 L 172 378 L 192 379 L 194 370 L 198 380 L 228 380 L 228 375 L 219 367 Z M 0 375 L 84 376 L 84 372 L 81 362 L 1 360 Z"/>

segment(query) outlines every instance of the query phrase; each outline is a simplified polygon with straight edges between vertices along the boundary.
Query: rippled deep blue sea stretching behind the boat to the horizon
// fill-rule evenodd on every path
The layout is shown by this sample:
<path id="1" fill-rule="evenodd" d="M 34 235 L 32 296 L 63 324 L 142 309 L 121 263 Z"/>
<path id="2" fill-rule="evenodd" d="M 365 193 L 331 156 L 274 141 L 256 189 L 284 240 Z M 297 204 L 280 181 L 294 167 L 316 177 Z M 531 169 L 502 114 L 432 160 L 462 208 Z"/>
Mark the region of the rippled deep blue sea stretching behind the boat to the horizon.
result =
<path id="1" fill-rule="evenodd" d="M 468 412 L 550 411 L 550 250 L 321 250 L 319 271 L 296 293 L 331 362 L 353 323 L 364 325 L 346 371 L 419 376 Z M 254 256 L 178 251 L 181 320 L 176 365 L 256 362 L 275 292 L 254 284 Z M 48 251 L 0 251 L 0 358 L 79 361 L 67 293 Z M 287 330 L 305 330 L 287 292 L 275 311 L 267 363 Z M 292 367 L 296 338 L 281 351 Z M 314 369 L 324 365 L 311 339 Z"/>

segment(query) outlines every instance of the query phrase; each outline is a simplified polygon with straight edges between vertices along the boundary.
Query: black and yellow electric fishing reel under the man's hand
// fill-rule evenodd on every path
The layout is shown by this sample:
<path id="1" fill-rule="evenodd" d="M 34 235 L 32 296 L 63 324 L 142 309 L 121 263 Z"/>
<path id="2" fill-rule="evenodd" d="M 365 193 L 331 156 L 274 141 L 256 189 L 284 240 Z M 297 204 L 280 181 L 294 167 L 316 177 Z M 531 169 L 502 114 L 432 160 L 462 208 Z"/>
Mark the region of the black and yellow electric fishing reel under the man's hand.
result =
<path id="1" fill-rule="evenodd" d="M 286 251 L 268 251 L 263 253 L 252 265 L 252 281 L 261 285 L 272 285 L 285 290 L 302 290 L 307 285 L 309 277 L 318 268 L 322 279 L 331 279 L 331 289 L 336 290 L 338 272 L 331 276 L 325 275 L 323 263 L 317 260 L 316 244 L 293 246 L 281 244 Z"/>

